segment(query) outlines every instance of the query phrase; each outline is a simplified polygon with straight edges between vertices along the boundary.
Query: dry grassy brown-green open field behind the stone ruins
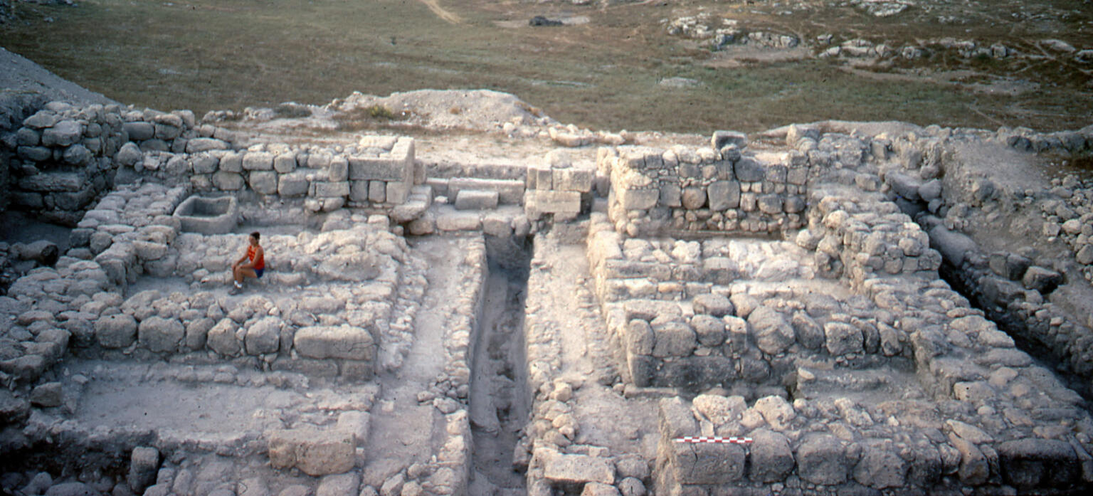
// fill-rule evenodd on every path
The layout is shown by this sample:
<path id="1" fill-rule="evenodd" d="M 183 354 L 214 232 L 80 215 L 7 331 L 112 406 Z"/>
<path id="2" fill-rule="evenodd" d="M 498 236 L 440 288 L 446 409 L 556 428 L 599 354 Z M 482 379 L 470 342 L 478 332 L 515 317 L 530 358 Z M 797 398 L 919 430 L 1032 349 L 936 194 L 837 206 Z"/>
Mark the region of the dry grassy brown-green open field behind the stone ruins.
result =
<path id="1" fill-rule="evenodd" d="M 616 131 L 754 131 L 832 118 L 1060 129 L 1084 125 L 1081 109 L 1093 103 L 1093 62 L 1076 58 L 1093 48 L 1089 12 L 1083 0 L 89 0 L 77 8 L 21 3 L 0 29 L 8 49 L 84 86 L 199 114 L 324 104 L 353 91 L 491 88 L 560 120 Z M 529 26 L 536 15 L 563 25 Z M 674 21 L 696 16 L 705 31 L 670 33 Z M 85 35 L 89 26 L 96 36 Z M 792 36 L 797 45 L 710 46 L 724 28 Z M 821 57 L 859 40 L 894 51 Z M 999 44 L 1013 55 L 975 51 Z M 924 51 L 905 59 L 898 52 L 908 46 Z M 696 84 L 660 84 L 671 78 Z"/>

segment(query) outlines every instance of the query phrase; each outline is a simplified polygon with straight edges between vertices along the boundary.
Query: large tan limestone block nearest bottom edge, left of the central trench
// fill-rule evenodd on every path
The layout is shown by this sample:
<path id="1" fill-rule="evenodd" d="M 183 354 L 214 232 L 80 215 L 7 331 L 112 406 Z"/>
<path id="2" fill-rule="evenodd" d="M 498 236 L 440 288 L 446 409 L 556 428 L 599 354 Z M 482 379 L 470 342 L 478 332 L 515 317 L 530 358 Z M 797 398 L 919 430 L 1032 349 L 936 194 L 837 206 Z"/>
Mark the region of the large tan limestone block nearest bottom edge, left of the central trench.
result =
<path id="1" fill-rule="evenodd" d="M 349 472 L 355 463 L 356 444 L 348 430 L 274 430 L 268 438 L 270 464 L 277 469 L 295 467 L 319 476 Z"/>

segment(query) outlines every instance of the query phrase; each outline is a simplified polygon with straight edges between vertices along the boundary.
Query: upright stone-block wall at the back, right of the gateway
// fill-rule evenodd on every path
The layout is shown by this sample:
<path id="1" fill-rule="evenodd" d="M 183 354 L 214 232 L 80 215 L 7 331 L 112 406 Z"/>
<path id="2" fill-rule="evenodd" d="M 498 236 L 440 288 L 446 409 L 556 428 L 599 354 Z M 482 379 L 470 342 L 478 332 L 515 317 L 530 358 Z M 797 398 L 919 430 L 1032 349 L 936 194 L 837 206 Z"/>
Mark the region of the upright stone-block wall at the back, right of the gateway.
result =
<path id="1" fill-rule="evenodd" d="M 716 137 L 715 137 L 716 139 Z M 630 236 L 667 232 L 776 233 L 804 223 L 808 163 L 798 153 L 741 154 L 722 149 L 602 149 L 610 177 L 608 212 Z"/>

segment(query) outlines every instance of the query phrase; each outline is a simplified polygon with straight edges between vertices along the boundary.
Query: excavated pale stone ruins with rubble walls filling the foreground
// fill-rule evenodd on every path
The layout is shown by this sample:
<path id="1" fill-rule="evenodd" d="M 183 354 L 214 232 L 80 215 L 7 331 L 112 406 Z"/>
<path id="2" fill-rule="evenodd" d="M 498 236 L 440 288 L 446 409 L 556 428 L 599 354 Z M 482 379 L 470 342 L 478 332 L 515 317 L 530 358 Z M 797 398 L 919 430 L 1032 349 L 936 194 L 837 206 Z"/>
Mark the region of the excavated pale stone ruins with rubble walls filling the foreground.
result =
<path id="1" fill-rule="evenodd" d="M 0 246 L 21 268 L 0 296 L 5 492 L 1093 483 L 1093 185 L 985 168 L 1080 157 L 1091 128 L 825 122 L 491 167 L 408 137 L 20 111 L 0 203 L 71 231 L 54 260 Z M 1062 251 L 972 228 L 1030 211 Z M 228 295 L 252 229 L 267 274 Z"/>

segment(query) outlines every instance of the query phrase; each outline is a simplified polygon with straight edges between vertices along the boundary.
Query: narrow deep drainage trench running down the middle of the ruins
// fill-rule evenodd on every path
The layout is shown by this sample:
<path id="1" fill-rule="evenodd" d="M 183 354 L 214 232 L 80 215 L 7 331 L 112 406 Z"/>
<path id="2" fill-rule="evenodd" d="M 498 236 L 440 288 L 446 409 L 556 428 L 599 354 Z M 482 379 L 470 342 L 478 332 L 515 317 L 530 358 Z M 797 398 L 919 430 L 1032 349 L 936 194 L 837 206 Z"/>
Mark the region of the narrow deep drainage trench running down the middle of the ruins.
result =
<path id="1" fill-rule="evenodd" d="M 524 494 L 513 451 L 530 408 L 524 312 L 531 261 L 529 239 L 486 237 L 490 275 L 472 350 L 470 496 Z"/>

